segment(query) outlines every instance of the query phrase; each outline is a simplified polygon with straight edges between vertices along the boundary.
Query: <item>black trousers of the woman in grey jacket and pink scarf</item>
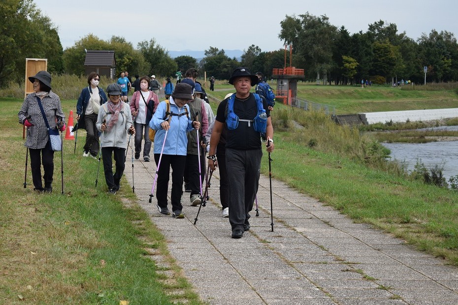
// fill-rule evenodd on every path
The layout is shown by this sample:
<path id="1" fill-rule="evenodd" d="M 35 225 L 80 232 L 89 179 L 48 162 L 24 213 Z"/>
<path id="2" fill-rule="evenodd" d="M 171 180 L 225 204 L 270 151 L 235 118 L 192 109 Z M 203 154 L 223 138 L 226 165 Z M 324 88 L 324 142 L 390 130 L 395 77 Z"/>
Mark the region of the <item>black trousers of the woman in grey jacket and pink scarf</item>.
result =
<path id="1" fill-rule="evenodd" d="M 126 166 L 126 150 L 119 147 L 102 147 L 103 171 L 105 172 L 105 181 L 108 189 L 112 189 L 119 184 L 123 177 Z M 115 160 L 115 173 L 113 175 L 113 161 Z"/>

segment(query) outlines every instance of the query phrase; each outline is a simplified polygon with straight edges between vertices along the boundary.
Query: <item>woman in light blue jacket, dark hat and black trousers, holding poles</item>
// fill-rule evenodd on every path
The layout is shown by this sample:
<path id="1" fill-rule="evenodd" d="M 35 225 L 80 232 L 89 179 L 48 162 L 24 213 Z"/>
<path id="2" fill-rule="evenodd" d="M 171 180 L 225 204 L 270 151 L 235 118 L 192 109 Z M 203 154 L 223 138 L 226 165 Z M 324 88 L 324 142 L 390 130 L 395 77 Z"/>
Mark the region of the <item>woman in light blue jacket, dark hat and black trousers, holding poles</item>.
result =
<path id="1" fill-rule="evenodd" d="M 177 84 L 170 97 L 169 107 L 165 101 L 159 103 L 150 121 L 150 128 L 157 130 L 154 137 L 156 166 L 158 166 L 161 152 L 163 152 L 156 188 L 157 207 L 159 213 L 170 215 L 167 209 L 167 190 L 170 167 L 172 167 L 171 203 L 172 216 L 175 218 L 184 218 L 183 206 L 180 201 L 183 193 L 183 174 L 188 147 L 186 132 L 200 128 L 199 122 L 189 118 L 189 106 L 186 104 L 191 100 L 193 100 L 193 87 L 185 83 Z M 169 108 L 169 113 L 167 113 L 167 108 Z M 169 119 L 170 121 L 168 121 Z M 166 131 L 167 137 L 165 137 Z"/>

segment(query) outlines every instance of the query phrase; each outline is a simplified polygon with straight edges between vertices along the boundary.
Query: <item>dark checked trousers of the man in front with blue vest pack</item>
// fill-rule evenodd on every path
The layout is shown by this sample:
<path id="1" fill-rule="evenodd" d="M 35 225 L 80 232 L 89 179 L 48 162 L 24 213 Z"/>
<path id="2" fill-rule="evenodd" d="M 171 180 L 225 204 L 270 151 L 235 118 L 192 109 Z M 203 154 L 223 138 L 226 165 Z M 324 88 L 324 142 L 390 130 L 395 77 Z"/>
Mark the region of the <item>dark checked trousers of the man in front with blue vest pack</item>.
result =
<path id="1" fill-rule="evenodd" d="M 226 149 L 229 179 L 229 222 L 232 230 L 244 229 L 259 187 L 262 150 Z"/>

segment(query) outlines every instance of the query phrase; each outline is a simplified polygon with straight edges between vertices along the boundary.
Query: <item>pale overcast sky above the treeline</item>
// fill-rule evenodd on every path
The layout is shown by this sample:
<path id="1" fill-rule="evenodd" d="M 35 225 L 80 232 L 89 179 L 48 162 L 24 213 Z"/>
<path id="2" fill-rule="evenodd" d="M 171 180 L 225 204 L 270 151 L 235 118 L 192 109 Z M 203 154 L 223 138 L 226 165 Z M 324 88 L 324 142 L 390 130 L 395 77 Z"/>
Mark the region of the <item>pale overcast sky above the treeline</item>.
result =
<path id="1" fill-rule="evenodd" d="M 89 33 L 108 40 L 123 36 L 134 47 L 155 38 L 170 51 L 283 48 L 278 38 L 286 15 L 307 11 L 352 34 L 383 20 L 413 39 L 432 29 L 458 35 L 457 0 L 34 0 L 58 27 L 65 48 Z"/>

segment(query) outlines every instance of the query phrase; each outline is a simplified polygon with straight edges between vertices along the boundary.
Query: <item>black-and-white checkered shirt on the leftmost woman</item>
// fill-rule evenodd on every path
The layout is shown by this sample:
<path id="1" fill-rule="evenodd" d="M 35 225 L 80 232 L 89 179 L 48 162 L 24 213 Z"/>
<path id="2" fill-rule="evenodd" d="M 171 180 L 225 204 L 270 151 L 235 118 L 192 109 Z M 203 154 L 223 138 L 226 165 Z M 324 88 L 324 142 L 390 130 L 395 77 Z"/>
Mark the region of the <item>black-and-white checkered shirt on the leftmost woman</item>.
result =
<path id="1" fill-rule="evenodd" d="M 50 128 L 56 127 L 56 117 L 62 118 L 65 122 L 61 99 L 56 93 L 49 91 L 41 99 L 41 104 L 43 105 L 43 110 Z M 32 116 L 30 121 L 33 126 L 27 128 L 27 139 L 24 145 L 32 149 L 42 149 L 46 146 L 49 137 L 35 93 L 27 95 L 24 99 L 21 110 L 18 113 L 19 123 L 24 124 L 25 119 L 29 115 Z"/>

